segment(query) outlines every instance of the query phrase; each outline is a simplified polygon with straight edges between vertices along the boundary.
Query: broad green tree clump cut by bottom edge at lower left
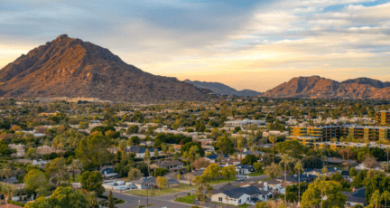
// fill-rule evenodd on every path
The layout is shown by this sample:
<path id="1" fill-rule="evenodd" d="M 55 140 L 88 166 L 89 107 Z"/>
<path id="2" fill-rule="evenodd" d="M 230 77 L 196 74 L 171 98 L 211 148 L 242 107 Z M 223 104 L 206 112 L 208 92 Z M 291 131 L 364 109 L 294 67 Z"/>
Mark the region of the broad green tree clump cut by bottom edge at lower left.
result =
<path id="1" fill-rule="evenodd" d="M 70 186 L 57 187 L 50 198 L 40 197 L 33 203 L 27 203 L 25 208 L 51 208 L 51 207 L 91 207 L 91 202 L 81 190 L 75 190 Z"/>

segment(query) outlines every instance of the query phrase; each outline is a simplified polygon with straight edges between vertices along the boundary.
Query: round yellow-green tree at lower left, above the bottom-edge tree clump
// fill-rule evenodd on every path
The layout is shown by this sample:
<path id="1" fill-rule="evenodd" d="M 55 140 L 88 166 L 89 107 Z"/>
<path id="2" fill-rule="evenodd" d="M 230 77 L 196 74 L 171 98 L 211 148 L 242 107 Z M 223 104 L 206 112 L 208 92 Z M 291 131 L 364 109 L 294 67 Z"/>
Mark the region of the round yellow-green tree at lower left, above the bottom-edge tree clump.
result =
<path id="1" fill-rule="evenodd" d="M 34 192 L 39 196 L 50 194 L 48 176 L 40 170 L 30 170 L 27 175 L 24 175 L 23 183 L 26 184 L 25 190 L 30 194 Z"/>

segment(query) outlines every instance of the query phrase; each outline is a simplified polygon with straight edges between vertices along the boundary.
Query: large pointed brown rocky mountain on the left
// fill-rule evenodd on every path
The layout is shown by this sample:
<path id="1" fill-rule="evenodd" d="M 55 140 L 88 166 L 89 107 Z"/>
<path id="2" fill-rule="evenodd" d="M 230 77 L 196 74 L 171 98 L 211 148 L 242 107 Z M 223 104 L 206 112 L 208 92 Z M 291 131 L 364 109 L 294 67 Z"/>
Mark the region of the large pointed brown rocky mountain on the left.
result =
<path id="1" fill-rule="evenodd" d="M 193 85 L 141 71 L 105 48 L 66 34 L 6 65 L 0 82 L 1 98 L 205 99 Z"/>

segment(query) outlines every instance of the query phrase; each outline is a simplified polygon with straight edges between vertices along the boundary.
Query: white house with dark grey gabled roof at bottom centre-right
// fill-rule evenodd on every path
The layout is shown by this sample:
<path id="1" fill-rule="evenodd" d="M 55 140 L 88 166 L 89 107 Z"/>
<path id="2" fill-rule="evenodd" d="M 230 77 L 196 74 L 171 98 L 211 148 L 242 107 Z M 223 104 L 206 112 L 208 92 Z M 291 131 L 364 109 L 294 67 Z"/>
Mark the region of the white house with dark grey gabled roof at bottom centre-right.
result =
<path id="1" fill-rule="evenodd" d="M 237 187 L 234 185 L 224 185 L 217 190 L 213 190 L 211 202 L 228 203 L 231 205 L 242 205 L 244 203 L 254 204 L 253 199 L 267 201 L 272 198 L 272 192 L 261 191 L 255 186 Z M 252 202 L 251 202 L 252 201 Z"/>

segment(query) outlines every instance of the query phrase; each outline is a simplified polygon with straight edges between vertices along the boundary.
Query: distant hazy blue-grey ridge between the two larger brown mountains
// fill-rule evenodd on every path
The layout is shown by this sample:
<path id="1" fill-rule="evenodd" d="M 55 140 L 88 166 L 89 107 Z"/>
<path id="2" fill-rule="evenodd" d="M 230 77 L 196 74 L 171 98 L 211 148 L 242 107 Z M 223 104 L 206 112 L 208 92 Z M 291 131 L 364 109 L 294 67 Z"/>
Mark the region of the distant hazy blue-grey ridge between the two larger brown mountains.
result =
<path id="1" fill-rule="evenodd" d="M 236 95 L 236 96 L 254 97 L 261 94 L 261 92 L 255 90 L 236 90 L 230 88 L 228 85 L 219 82 L 207 82 L 207 81 L 199 81 L 199 80 L 194 80 L 194 81 L 184 80 L 184 82 L 193 84 L 195 87 L 200 89 L 209 89 L 219 95 Z"/>

